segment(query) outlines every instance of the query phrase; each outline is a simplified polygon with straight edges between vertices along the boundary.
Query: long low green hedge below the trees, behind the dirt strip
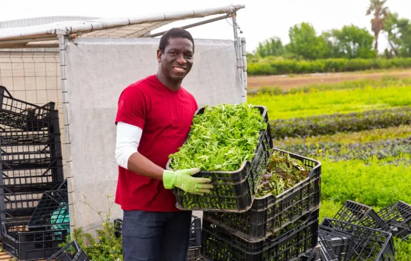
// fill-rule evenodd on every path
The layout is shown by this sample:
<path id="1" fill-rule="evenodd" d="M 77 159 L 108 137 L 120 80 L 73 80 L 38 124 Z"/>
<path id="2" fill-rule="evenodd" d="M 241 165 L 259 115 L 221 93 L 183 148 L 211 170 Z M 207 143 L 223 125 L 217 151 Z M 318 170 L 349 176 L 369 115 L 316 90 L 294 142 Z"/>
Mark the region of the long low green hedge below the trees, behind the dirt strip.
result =
<path id="1" fill-rule="evenodd" d="M 330 58 L 318 60 L 271 58 L 247 63 L 247 73 L 250 76 L 256 76 L 290 73 L 348 72 L 370 69 L 398 69 L 410 67 L 411 58 Z"/>

